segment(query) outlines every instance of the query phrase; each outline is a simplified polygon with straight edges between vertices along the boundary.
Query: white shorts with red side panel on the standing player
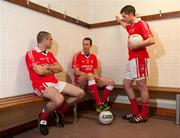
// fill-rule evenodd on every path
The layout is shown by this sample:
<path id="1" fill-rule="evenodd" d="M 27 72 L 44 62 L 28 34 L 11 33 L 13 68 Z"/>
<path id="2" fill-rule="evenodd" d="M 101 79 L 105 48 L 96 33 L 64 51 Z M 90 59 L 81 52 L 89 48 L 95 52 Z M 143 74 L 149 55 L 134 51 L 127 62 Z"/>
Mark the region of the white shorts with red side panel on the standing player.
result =
<path id="1" fill-rule="evenodd" d="M 130 61 L 128 61 L 124 79 L 141 80 L 147 78 L 149 75 L 148 70 L 148 58 L 133 58 Z"/>

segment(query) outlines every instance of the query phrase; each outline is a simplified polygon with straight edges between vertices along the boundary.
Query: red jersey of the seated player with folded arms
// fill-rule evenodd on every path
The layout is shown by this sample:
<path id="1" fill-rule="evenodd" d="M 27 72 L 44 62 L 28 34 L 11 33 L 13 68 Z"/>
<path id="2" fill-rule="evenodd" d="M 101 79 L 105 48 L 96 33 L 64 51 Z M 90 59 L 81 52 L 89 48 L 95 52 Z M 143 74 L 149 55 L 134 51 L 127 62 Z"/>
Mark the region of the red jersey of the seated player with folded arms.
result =
<path id="1" fill-rule="evenodd" d="M 41 52 L 38 47 L 28 51 L 26 53 L 26 64 L 29 70 L 29 76 L 32 81 L 33 87 L 44 82 L 57 83 L 58 80 L 55 78 L 54 74 L 48 76 L 38 75 L 34 70 L 35 65 L 51 65 L 56 63 L 57 60 L 51 52 L 46 51 L 46 53 Z"/>

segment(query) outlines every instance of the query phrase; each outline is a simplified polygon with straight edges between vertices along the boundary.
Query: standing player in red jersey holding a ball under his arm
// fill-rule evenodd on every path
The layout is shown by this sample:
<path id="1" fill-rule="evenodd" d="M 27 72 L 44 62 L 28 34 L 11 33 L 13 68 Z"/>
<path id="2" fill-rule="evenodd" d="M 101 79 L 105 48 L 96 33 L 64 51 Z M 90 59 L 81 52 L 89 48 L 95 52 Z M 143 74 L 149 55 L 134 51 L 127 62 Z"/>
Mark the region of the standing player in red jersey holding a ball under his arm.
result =
<path id="1" fill-rule="evenodd" d="M 146 47 L 154 44 L 154 38 L 148 24 L 140 18 L 136 18 L 136 11 L 133 6 L 127 5 L 123 7 L 120 14 L 123 20 L 116 16 L 116 21 L 127 30 L 129 37 L 133 34 L 139 34 L 143 38 L 143 41 L 137 44 L 128 42 L 129 61 L 123 86 L 130 100 L 132 113 L 122 117 L 131 123 L 146 122 L 149 110 L 149 92 L 146 84 L 149 55 Z M 132 88 L 134 80 L 141 94 L 141 111 L 139 111 L 135 93 Z"/>

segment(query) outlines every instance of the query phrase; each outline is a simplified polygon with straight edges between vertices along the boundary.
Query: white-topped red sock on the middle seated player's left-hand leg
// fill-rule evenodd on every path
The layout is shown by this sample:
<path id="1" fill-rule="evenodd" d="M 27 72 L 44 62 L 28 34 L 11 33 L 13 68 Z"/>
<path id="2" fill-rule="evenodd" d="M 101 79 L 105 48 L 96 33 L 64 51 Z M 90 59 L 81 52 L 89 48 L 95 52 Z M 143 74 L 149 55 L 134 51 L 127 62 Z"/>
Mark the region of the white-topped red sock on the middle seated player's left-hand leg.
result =
<path id="1" fill-rule="evenodd" d="M 95 80 L 88 81 L 89 90 L 96 101 L 96 105 L 99 106 L 101 104 L 101 99 L 99 97 L 98 89 Z"/>

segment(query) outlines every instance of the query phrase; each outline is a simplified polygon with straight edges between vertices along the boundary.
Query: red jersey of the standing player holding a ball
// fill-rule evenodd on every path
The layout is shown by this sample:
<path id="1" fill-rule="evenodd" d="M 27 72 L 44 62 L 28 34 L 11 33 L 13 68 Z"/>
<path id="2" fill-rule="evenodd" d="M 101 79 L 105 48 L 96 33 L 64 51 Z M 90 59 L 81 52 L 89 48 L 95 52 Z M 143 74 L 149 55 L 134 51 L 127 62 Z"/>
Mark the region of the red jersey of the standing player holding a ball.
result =
<path id="1" fill-rule="evenodd" d="M 133 34 L 139 34 L 143 37 L 144 40 L 152 36 L 148 24 L 142 21 L 140 18 L 137 18 L 133 25 L 126 25 L 126 30 L 129 33 L 129 36 Z M 149 54 L 145 47 L 135 51 L 128 48 L 128 53 L 129 60 L 133 58 L 149 58 Z"/>

